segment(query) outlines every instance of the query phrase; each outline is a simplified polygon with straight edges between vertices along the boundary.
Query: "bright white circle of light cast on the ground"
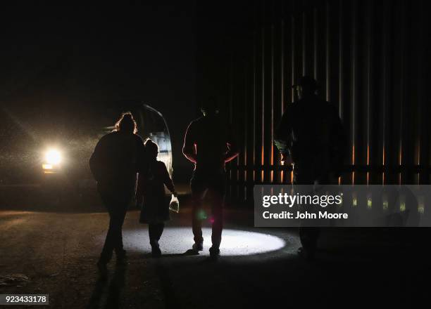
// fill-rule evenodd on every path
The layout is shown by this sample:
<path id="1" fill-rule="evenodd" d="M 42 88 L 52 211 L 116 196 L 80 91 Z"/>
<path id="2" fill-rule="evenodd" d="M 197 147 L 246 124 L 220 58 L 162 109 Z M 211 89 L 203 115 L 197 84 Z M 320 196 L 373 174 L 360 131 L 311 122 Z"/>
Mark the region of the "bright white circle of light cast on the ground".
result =
<path id="1" fill-rule="evenodd" d="M 211 246 L 211 228 L 202 228 L 204 251 L 200 255 L 208 255 Z M 124 230 L 123 243 L 126 250 L 151 252 L 148 229 Z M 171 228 L 163 231 L 160 239 L 162 254 L 183 254 L 192 248 L 192 228 Z M 285 246 L 285 241 L 273 235 L 244 230 L 223 230 L 220 251 L 223 256 L 247 256 L 275 251 Z"/>

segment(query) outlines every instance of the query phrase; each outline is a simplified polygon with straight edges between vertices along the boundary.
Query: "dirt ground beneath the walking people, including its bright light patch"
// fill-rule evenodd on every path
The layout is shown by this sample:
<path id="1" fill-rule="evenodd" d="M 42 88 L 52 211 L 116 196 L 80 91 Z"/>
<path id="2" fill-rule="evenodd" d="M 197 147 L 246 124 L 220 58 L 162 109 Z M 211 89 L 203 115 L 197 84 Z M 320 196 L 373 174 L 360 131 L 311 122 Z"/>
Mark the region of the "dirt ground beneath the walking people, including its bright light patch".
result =
<path id="1" fill-rule="evenodd" d="M 193 242 L 187 207 L 165 228 L 159 259 L 149 254 L 139 212 L 129 211 L 127 264 L 112 261 L 104 281 L 95 266 L 108 225 L 100 210 L 0 211 L 0 294 L 49 294 L 49 308 L 187 309 L 409 308 L 428 295 L 429 256 L 405 244 L 405 231 L 326 230 L 310 263 L 296 254 L 296 230 L 254 228 L 244 209 L 225 211 L 217 261 L 208 258 L 208 228 L 205 251 L 184 254 Z"/>

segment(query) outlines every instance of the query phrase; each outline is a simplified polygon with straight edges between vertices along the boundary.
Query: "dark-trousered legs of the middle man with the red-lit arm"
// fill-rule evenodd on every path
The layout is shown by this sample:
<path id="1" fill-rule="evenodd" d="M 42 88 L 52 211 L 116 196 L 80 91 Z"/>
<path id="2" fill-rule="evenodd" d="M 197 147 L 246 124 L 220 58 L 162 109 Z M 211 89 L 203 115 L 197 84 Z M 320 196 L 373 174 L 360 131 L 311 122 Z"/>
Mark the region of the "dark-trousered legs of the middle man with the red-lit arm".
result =
<path id="1" fill-rule="evenodd" d="M 199 175 L 194 173 L 190 182 L 192 189 L 192 230 L 194 242 L 202 243 L 202 221 L 206 216 L 202 211 L 202 203 L 205 201 L 211 206 L 212 234 L 211 242 L 215 249 L 218 249 L 221 242 L 223 230 L 223 204 L 225 199 L 225 174 Z"/>

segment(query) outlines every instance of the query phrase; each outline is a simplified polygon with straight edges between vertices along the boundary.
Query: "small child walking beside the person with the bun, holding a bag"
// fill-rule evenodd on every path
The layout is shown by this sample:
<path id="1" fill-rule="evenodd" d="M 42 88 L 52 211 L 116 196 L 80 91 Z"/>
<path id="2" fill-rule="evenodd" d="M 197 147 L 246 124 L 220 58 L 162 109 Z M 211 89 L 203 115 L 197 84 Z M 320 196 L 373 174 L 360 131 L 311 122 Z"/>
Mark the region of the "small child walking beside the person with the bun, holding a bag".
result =
<path id="1" fill-rule="evenodd" d="M 152 140 L 145 143 L 146 156 L 149 160 L 148 172 L 140 175 L 137 184 L 137 202 L 142 202 L 140 223 L 148 223 L 149 240 L 151 244 L 151 254 L 154 257 L 161 256 L 161 249 L 158 245 L 164 221 L 169 220 L 169 202 L 165 196 L 165 187 L 177 197 L 172 179 L 170 179 L 168 169 L 163 162 L 157 160 L 158 145 Z"/>

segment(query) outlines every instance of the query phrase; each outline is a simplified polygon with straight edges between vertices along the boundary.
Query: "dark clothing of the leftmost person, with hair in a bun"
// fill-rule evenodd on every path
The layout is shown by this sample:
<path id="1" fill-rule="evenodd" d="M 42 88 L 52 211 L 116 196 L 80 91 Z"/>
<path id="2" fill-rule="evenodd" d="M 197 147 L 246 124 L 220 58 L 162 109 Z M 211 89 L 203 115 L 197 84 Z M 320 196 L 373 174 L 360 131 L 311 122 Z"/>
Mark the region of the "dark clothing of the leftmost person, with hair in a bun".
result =
<path id="1" fill-rule="evenodd" d="M 100 256 L 100 261 L 107 263 L 113 250 L 117 258 L 125 254 L 122 235 L 125 213 L 135 195 L 137 173 L 146 169 L 142 138 L 122 131 L 108 133 L 97 143 L 89 165 L 110 218 Z"/>

